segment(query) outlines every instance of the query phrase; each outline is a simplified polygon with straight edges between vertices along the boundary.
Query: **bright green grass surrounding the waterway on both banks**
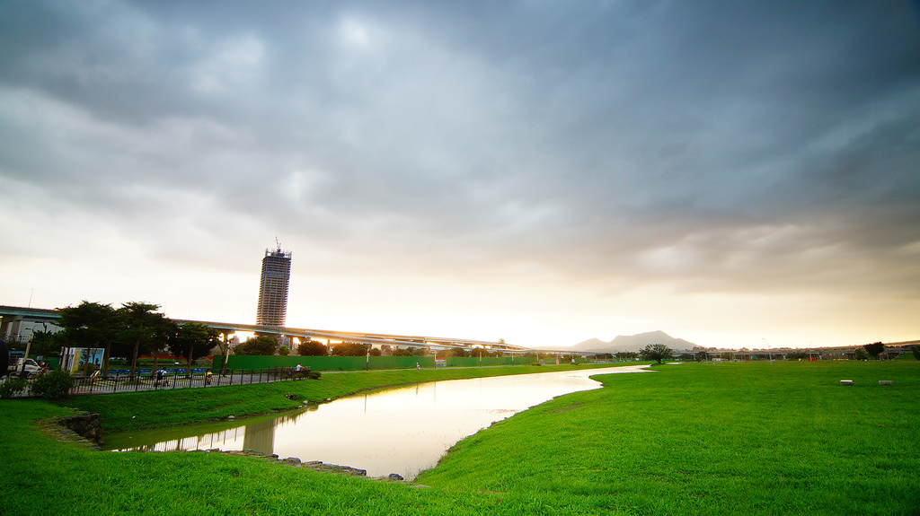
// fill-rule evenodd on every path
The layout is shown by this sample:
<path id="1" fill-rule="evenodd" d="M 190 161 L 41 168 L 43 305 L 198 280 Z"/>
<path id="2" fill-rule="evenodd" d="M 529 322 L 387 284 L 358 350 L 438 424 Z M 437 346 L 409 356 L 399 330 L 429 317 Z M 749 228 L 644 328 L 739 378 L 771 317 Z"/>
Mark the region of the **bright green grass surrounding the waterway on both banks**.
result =
<path id="1" fill-rule="evenodd" d="M 32 422 L 63 409 L 2 401 L 0 497 L 7 514 L 911 514 L 920 507 L 916 362 L 656 369 L 600 376 L 603 389 L 477 433 L 417 479 L 431 488 L 225 454 L 92 452 L 53 441 Z M 303 388 L 386 380 L 373 375 L 327 375 Z M 842 378 L 856 385 L 840 387 Z M 894 386 L 880 387 L 880 379 Z M 302 383 L 309 386 L 260 392 L 266 403 L 257 411 L 283 409 L 274 398 Z M 136 421 L 130 412 L 173 403 L 175 411 L 198 407 L 200 420 L 217 417 L 204 411 L 207 403 L 168 398 L 181 392 L 120 395 L 118 409 L 99 411 L 103 421 L 106 409 Z M 134 405 L 134 396 L 146 404 Z M 316 398 L 324 397 L 335 396 Z M 259 407 L 254 399 L 234 409 L 248 403 Z"/>

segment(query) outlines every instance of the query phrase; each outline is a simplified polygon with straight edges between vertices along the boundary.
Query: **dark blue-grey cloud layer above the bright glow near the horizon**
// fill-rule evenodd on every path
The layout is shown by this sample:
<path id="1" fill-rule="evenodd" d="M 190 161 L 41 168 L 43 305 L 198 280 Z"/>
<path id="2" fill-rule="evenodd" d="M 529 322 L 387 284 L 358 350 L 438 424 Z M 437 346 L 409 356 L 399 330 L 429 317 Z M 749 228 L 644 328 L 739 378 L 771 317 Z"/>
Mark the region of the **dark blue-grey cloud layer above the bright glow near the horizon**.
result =
<path id="1" fill-rule="evenodd" d="M 17 103 L 0 174 L 53 183 L 75 209 L 169 221 L 210 206 L 193 224 L 233 212 L 448 275 L 536 262 L 700 290 L 873 268 L 920 280 L 907 4 L 0 9 Z"/>

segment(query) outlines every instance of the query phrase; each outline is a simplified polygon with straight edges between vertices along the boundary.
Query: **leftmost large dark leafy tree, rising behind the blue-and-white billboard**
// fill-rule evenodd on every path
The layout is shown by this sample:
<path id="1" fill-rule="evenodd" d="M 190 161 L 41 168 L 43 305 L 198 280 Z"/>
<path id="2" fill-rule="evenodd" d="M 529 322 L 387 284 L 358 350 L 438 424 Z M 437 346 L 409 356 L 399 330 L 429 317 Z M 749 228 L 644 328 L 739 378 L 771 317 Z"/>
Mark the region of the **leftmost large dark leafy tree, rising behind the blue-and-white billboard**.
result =
<path id="1" fill-rule="evenodd" d="M 75 307 L 59 309 L 58 315 L 61 316 L 58 325 L 63 331 L 55 336 L 55 341 L 68 347 L 104 347 L 102 376 L 108 376 L 111 347 L 119 330 L 115 308 L 84 300 Z"/>

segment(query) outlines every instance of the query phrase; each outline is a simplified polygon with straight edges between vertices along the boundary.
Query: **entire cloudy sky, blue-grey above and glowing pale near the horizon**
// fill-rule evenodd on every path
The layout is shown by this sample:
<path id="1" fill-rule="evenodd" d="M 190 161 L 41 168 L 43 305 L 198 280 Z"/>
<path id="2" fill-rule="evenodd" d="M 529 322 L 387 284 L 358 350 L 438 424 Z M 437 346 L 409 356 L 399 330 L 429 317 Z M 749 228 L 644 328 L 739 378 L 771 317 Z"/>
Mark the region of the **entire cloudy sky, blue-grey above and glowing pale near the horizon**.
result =
<path id="1" fill-rule="evenodd" d="M 0 0 L 0 304 L 920 339 L 920 3 Z"/>

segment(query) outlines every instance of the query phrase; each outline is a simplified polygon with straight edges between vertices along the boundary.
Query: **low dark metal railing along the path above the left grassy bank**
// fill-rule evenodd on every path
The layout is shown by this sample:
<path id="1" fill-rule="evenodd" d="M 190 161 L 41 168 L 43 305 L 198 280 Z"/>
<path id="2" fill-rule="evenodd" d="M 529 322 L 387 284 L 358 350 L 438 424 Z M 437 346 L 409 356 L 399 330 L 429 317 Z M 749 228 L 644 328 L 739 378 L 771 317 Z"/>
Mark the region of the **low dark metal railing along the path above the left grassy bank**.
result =
<path id="1" fill-rule="evenodd" d="M 270 367 L 267 369 L 236 369 L 224 375 L 207 375 L 192 370 L 173 370 L 166 375 L 115 374 L 109 376 L 86 376 L 75 378 L 71 394 L 105 394 L 113 392 L 139 392 L 150 390 L 220 387 L 233 385 L 251 385 L 305 378 L 309 369 L 295 371 L 293 367 Z"/>

